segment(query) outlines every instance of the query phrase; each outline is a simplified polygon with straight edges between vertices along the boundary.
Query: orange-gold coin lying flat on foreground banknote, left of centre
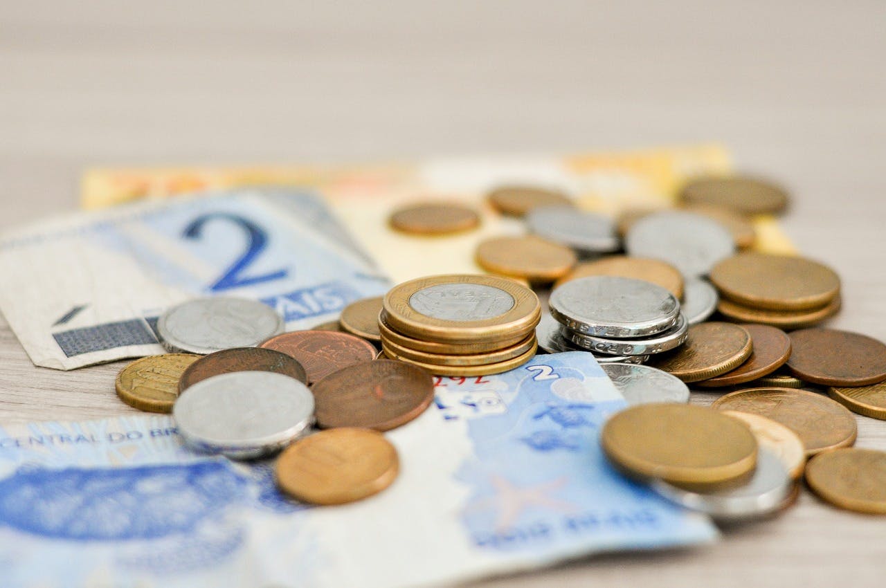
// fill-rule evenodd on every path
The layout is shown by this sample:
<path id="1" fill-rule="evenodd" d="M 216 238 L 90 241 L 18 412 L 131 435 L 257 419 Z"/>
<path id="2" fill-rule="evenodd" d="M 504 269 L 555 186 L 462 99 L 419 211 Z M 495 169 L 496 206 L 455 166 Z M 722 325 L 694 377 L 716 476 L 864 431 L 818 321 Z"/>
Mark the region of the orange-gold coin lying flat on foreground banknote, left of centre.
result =
<path id="1" fill-rule="evenodd" d="M 397 450 L 370 429 L 328 429 L 290 445 L 276 461 L 280 490 L 320 505 L 345 504 L 385 490 L 400 471 Z"/>

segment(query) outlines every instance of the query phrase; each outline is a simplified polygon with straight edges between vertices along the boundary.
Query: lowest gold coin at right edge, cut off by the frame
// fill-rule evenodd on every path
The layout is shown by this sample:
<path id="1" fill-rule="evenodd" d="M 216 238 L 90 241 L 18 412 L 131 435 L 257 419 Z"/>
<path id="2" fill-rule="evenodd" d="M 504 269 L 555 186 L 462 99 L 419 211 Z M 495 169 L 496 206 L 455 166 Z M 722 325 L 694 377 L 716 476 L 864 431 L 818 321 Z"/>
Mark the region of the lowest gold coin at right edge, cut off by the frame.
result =
<path id="1" fill-rule="evenodd" d="M 886 514 L 886 452 L 852 448 L 821 453 L 806 466 L 806 484 L 835 507 Z"/>

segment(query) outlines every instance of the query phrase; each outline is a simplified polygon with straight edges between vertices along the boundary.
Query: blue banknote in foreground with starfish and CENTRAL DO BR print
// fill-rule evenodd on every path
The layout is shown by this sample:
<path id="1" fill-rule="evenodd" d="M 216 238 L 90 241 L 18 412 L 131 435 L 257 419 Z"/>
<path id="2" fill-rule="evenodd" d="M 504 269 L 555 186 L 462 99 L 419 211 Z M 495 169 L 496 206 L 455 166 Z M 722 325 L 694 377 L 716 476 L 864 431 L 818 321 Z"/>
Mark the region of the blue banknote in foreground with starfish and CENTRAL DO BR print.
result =
<path id="1" fill-rule="evenodd" d="M 438 378 L 386 434 L 397 481 L 341 507 L 284 499 L 268 463 L 191 453 L 166 416 L 8 426 L 3 585 L 397 588 L 715 538 L 610 468 L 599 429 L 623 406 L 583 352 Z"/>

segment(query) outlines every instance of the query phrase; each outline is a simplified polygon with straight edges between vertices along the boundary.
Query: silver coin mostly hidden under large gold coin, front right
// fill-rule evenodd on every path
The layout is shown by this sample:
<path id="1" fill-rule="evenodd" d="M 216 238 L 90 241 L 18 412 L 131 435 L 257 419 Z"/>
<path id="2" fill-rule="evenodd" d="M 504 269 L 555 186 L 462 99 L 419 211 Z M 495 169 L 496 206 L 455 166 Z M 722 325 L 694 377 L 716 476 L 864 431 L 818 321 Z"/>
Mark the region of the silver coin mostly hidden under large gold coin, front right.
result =
<path id="1" fill-rule="evenodd" d="M 710 492 L 686 490 L 663 480 L 655 480 L 651 486 L 664 498 L 683 507 L 728 522 L 772 514 L 781 509 L 793 491 L 788 470 L 766 447 L 759 448 L 757 468 L 746 484 Z"/>

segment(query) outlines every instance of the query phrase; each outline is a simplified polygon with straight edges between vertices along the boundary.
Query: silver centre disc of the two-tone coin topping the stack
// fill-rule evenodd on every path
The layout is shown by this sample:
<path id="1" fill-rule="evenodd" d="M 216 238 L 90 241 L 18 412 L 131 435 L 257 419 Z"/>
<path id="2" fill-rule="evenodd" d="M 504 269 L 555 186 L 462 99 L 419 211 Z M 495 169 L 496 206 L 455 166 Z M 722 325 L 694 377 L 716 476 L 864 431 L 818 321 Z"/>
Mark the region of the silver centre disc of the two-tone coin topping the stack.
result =
<path id="1" fill-rule="evenodd" d="M 441 283 L 418 290 L 409 306 L 441 321 L 485 321 L 507 313 L 516 301 L 508 292 L 480 283 Z"/>

